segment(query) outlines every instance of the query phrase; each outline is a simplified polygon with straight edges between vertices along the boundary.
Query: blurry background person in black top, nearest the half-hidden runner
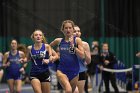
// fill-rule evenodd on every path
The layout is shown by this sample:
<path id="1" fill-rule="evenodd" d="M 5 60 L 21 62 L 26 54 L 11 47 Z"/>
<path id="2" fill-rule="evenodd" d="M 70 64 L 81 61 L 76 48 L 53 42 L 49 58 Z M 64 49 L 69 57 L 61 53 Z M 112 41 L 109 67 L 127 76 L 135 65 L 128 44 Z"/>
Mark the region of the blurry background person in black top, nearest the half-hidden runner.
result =
<path id="1" fill-rule="evenodd" d="M 98 69 L 98 81 L 96 80 L 96 67 L 100 63 L 100 48 L 98 41 L 93 41 L 91 45 L 91 63 L 88 65 L 88 74 L 92 86 L 92 92 L 98 93 L 99 81 L 101 81 L 101 73 Z M 98 85 L 96 84 L 98 83 Z"/>

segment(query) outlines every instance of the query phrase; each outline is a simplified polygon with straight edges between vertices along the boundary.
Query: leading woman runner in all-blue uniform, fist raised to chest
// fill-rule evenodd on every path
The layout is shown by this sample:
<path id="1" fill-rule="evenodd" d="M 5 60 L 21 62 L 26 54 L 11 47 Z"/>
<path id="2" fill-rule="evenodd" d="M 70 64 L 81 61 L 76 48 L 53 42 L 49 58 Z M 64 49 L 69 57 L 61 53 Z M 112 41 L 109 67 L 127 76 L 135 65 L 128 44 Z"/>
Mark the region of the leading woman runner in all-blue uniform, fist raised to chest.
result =
<path id="1" fill-rule="evenodd" d="M 73 21 L 63 21 L 61 31 L 65 37 L 56 38 L 50 45 L 59 45 L 60 63 L 56 75 L 65 93 L 72 93 L 76 88 L 79 77 L 79 62 L 77 56 L 83 58 L 84 50 L 81 39 L 73 37 Z"/>

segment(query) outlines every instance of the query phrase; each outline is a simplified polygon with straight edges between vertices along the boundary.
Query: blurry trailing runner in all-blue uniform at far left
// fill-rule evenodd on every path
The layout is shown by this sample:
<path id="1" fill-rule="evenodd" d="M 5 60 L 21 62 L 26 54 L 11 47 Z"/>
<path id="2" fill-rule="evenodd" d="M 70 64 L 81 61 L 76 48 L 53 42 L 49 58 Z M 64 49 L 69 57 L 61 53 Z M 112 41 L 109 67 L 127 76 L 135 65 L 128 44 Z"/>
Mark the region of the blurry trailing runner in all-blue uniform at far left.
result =
<path id="1" fill-rule="evenodd" d="M 11 41 L 11 50 L 3 57 L 3 66 L 6 68 L 6 78 L 10 93 L 21 93 L 21 73 L 24 71 L 21 61 L 26 61 L 25 54 L 17 50 L 17 41 Z M 15 89 L 15 90 L 14 90 Z"/>

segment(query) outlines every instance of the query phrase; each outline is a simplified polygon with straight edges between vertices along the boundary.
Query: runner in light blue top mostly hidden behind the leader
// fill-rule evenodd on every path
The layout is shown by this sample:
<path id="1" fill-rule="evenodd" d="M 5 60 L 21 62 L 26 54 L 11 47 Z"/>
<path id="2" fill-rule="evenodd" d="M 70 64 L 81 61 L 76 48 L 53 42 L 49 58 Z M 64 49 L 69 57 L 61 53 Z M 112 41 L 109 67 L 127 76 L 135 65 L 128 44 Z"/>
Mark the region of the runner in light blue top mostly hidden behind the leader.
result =
<path id="1" fill-rule="evenodd" d="M 77 25 L 74 26 L 74 36 L 81 37 L 81 31 Z M 87 64 L 89 64 L 91 62 L 89 44 L 85 41 L 82 41 L 82 44 L 83 44 L 83 48 L 84 48 L 85 57 L 84 57 L 84 59 L 81 59 L 80 57 L 78 57 L 79 65 L 80 65 L 79 81 L 78 81 L 77 88 L 74 93 L 84 93 L 84 86 L 85 86 L 85 81 L 87 78 L 87 67 L 86 66 L 87 66 Z"/>

